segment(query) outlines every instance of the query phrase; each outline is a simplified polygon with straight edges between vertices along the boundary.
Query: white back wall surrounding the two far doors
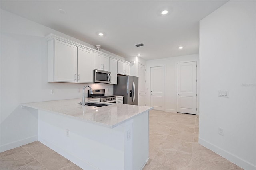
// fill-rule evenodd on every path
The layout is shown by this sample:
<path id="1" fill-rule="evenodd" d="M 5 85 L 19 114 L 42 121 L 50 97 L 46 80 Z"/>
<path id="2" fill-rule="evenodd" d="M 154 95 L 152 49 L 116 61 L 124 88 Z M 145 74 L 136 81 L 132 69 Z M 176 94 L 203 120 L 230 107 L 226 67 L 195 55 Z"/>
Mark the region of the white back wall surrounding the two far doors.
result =
<path id="1" fill-rule="evenodd" d="M 150 106 L 150 67 L 164 66 L 166 82 L 164 111 L 177 112 L 177 63 L 188 61 L 196 61 L 198 64 L 199 54 L 146 61 L 146 106 Z"/>

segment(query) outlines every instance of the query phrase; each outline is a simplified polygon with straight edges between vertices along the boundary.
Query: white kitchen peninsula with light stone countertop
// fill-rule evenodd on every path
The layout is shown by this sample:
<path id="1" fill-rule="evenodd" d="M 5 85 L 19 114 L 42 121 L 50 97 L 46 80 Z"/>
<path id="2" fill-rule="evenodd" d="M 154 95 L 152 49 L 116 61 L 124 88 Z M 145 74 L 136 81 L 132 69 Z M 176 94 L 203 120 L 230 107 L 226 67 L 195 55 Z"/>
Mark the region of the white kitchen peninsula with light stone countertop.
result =
<path id="1" fill-rule="evenodd" d="M 142 169 L 148 161 L 148 116 L 152 107 L 94 107 L 82 106 L 80 101 L 26 103 L 22 107 L 33 108 L 28 110 L 38 115 L 38 141 L 81 168 Z"/>

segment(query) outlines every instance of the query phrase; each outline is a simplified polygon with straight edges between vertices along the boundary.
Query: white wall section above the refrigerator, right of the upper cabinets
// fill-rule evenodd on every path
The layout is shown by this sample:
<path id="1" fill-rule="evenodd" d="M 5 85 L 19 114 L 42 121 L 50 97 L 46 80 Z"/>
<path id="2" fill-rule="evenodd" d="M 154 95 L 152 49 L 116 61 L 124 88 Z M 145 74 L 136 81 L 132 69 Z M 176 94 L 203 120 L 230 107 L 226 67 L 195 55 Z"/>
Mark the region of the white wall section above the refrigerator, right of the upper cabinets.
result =
<path id="1" fill-rule="evenodd" d="M 140 57 L 127 57 L 126 61 L 135 61 L 135 63 L 130 63 L 130 76 L 139 76 L 139 64 L 146 66 L 146 60 Z"/>

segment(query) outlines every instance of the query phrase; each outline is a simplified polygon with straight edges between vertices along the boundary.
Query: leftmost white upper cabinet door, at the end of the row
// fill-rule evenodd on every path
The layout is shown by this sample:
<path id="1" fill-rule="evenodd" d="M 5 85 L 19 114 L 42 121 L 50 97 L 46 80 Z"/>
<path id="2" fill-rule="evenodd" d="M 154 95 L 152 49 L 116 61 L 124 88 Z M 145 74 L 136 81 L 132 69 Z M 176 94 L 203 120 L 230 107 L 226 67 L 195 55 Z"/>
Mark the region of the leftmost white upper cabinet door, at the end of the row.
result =
<path id="1" fill-rule="evenodd" d="M 77 47 L 54 40 L 54 81 L 76 82 Z"/>

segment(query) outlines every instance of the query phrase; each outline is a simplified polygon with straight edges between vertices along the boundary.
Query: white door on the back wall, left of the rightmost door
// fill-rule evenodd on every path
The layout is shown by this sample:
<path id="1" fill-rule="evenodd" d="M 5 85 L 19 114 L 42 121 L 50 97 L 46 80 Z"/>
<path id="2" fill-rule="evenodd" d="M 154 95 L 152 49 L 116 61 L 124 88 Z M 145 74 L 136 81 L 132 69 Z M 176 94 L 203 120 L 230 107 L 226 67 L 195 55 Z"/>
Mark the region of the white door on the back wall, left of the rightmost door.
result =
<path id="1" fill-rule="evenodd" d="M 164 110 L 164 66 L 150 68 L 150 106 Z"/>

